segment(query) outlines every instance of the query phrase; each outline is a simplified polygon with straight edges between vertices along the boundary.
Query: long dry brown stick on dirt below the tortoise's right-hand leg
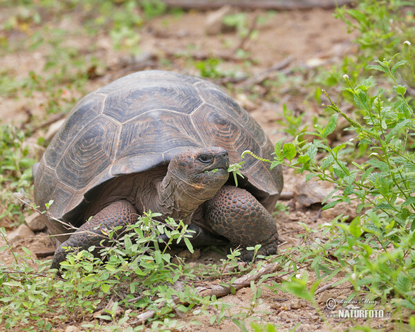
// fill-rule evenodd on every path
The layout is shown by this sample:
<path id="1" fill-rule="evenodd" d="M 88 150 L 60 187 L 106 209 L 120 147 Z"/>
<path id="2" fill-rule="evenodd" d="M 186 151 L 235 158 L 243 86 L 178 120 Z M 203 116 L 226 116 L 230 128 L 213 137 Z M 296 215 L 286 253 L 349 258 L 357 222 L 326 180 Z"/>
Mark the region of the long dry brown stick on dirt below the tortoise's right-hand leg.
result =
<path id="1" fill-rule="evenodd" d="M 259 270 L 255 271 L 255 274 L 253 275 L 244 275 L 243 277 L 239 277 L 230 286 L 221 286 L 221 285 L 200 286 L 196 288 L 196 291 L 198 295 L 201 295 L 203 297 L 212 296 L 212 295 L 215 295 L 216 297 L 222 297 L 222 296 L 230 294 L 232 292 L 232 288 L 235 291 L 239 291 L 239 289 L 243 287 L 250 286 L 250 282 L 255 282 L 260 277 L 262 277 L 263 275 L 267 275 L 268 273 L 274 273 L 275 270 L 277 270 L 277 268 L 279 268 L 278 263 L 266 264 L 265 266 L 262 266 Z M 177 303 L 179 302 L 177 301 Z M 164 302 L 160 303 L 159 307 L 164 306 L 164 304 L 165 304 Z M 189 303 L 184 302 L 181 304 L 188 305 Z M 172 308 L 172 310 L 174 310 L 174 308 Z M 137 326 L 137 325 L 144 324 L 145 322 L 147 322 L 147 320 L 154 317 L 154 315 L 156 315 L 156 311 L 153 309 L 145 311 L 144 313 L 138 315 L 137 319 L 134 320 L 134 322 L 131 322 L 130 325 Z"/>

